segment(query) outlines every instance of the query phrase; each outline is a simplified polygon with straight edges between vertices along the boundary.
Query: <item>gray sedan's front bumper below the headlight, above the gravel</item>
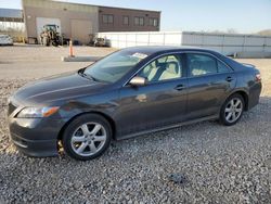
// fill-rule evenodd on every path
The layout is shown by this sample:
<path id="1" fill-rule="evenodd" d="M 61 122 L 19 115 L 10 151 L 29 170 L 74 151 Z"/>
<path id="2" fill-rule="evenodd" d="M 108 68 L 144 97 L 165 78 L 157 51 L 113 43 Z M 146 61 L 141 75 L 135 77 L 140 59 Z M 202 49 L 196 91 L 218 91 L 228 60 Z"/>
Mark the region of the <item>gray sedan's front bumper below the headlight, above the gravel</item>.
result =
<path id="1" fill-rule="evenodd" d="M 16 148 L 29 156 L 56 156 L 62 119 L 10 118 L 10 133 Z"/>

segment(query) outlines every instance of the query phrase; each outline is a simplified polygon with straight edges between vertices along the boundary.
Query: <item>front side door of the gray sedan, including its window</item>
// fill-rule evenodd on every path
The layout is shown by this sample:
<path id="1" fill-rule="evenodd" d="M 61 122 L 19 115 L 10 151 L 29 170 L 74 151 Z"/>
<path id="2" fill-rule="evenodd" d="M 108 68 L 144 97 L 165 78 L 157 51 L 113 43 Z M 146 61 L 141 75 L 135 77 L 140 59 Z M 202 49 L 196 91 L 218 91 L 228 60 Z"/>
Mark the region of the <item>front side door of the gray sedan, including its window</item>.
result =
<path id="1" fill-rule="evenodd" d="M 145 86 L 128 84 L 120 89 L 121 114 L 117 124 L 121 136 L 184 120 L 188 79 L 182 59 L 181 54 L 157 58 L 138 73 L 147 79 Z"/>

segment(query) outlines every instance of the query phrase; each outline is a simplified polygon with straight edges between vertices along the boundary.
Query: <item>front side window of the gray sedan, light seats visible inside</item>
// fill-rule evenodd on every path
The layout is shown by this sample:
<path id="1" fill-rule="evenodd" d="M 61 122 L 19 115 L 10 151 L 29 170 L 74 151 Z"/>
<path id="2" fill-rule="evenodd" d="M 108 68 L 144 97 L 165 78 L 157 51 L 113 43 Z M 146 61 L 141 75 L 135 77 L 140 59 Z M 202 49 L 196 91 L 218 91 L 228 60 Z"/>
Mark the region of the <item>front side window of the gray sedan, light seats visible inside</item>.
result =
<path id="1" fill-rule="evenodd" d="M 177 79 L 182 77 L 182 64 L 177 54 L 158 58 L 146 65 L 138 76 L 144 77 L 149 82 Z"/>

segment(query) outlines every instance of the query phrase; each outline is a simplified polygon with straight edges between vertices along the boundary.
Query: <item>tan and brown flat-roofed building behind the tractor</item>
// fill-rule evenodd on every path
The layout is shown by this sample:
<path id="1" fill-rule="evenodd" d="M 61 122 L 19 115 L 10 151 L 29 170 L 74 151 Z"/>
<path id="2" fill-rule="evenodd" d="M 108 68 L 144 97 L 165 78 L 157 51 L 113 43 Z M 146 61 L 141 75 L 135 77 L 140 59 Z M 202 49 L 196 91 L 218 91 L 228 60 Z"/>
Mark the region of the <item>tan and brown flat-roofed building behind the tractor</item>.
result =
<path id="1" fill-rule="evenodd" d="M 82 43 L 99 31 L 157 31 L 160 12 L 67 3 L 22 0 L 26 36 L 38 38 L 47 24 L 56 25 L 65 38 Z M 39 38 L 38 38 L 39 39 Z"/>

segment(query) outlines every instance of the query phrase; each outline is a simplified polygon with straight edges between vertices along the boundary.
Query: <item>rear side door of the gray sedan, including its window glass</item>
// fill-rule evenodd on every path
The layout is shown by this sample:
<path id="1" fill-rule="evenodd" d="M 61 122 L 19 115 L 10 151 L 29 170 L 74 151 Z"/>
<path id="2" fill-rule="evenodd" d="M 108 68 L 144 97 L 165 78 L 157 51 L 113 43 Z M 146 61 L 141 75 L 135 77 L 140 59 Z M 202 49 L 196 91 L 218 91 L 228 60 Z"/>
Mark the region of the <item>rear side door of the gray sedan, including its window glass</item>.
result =
<path id="1" fill-rule="evenodd" d="M 233 71 L 208 53 L 186 53 L 189 74 L 188 118 L 218 114 L 225 95 L 235 87 Z"/>

